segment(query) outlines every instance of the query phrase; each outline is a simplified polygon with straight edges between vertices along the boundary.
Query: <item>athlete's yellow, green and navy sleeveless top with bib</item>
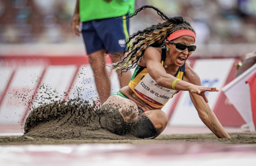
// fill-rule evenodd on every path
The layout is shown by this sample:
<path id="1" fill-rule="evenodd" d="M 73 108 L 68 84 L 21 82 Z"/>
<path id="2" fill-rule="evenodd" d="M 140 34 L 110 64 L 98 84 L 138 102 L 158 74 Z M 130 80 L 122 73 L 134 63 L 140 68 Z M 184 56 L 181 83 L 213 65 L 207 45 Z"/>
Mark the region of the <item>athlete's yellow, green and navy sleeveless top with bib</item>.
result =
<path id="1" fill-rule="evenodd" d="M 164 65 L 165 55 L 165 49 L 162 48 L 162 65 Z M 174 77 L 183 80 L 185 64 L 179 67 Z M 178 93 L 177 90 L 164 88 L 156 84 L 156 81 L 148 74 L 147 67 L 140 65 L 137 65 L 130 79 L 129 87 L 142 101 L 155 108 L 162 108 L 174 94 Z"/>

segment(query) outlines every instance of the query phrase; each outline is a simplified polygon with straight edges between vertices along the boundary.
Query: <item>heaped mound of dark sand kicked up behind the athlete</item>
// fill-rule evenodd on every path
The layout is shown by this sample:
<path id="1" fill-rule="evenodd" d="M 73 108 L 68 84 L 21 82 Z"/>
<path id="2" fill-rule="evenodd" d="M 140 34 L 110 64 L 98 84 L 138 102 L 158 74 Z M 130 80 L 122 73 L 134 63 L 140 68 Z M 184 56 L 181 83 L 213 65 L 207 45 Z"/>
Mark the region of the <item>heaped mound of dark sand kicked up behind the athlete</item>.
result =
<path id="1" fill-rule="evenodd" d="M 123 120 L 117 107 L 98 107 L 95 102 L 89 104 L 89 101 L 78 97 L 33 109 L 26 119 L 24 136 L 53 139 L 138 139 L 128 134 L 133 125 Z"/>

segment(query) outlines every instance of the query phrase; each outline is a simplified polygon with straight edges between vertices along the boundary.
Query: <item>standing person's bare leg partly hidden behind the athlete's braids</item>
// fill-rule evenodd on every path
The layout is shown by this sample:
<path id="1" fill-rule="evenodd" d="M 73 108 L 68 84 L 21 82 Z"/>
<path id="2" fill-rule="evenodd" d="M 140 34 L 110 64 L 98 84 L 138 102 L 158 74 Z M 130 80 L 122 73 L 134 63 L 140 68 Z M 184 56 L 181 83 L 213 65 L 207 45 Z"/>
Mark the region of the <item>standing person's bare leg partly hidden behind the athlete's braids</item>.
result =
<path id="1" fill-rule="evenodd" d="M 115 56 L 115 55 L 119 55 L 119 54 L 122 54 L 122 52 L 119 52 L 119 53 L 111 53 L 110 54 L 110 57 L 111 57 L 111 60 L 112 60 L 112 63 L 117 63 L 117 62 L 120 62 L 120 56 Z M 121 73 L 121 70 L 117 70 L 117 75 L 119 75 Z M 120 75 L 121 76 L 121 75 Z M 120 82 L 120 86 L 121 88 L 124 87 L 124 86 L 127 86 L 130 82 L 130 79 L 131 79 L 131 73 L 130 71 L 128 70 L 127 72 L 123 72 L 122 73 L 122 76 L 119 77 L 119 82 Z"/>

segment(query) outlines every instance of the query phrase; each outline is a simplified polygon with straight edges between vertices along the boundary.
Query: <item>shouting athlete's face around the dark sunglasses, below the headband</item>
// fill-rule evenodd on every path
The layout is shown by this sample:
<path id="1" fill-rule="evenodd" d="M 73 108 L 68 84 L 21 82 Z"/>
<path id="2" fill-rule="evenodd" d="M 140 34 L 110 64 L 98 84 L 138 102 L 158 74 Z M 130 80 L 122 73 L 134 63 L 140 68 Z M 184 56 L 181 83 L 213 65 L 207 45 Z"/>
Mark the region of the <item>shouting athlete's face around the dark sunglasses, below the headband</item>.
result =
<path id="1" fill-rule="evenodd" d="M 194 45 L 194 38 L 190 36 L 181 36 L 180 38 L 173 40 L 173 42 Z M 166 45 L 170 47 L 170 51 L 167 51 L 168 59 L 170 58 L 172 63 L 177 66 L 182 66 L 192 53 L 188 49 L 185 49 L 182 52 L 179 49 L 177 50 L 176 45 L 170 43 L 169 41 L 166 41 Z"/>

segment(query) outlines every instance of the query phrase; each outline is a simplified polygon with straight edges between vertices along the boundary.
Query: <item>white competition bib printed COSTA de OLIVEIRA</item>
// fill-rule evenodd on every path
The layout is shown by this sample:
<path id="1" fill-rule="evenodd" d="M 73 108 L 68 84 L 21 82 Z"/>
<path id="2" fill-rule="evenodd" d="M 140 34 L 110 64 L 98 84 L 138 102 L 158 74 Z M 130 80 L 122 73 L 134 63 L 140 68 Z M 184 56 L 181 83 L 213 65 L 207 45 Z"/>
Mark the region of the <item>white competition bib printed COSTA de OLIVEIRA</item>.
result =
<path id="1" fill-rule="evenodd" d="M 176 92 L 176 90 L 156 84 L 156 81 L 148 73 L 135 86 L 134 90 L 140 97 L 156 105 L 164 105 Z"/>

